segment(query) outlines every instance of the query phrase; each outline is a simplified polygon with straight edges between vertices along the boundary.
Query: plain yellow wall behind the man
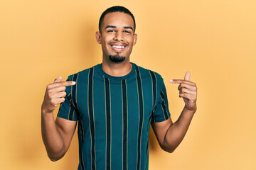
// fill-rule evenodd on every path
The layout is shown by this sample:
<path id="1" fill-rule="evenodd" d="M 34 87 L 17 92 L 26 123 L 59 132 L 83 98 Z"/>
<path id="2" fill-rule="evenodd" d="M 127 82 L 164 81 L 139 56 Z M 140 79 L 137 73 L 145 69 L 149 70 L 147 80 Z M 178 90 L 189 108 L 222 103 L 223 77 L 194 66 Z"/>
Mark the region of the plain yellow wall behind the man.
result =
<path id="1" fill-rule="evenodd" d="M 173 120 L 183 100 L 168 80 L 191 71 L 198 86 L 198 111 L 178 149 L 162 151 L 151 133 L 149 169 L 256 169 L 255 0 L 1 1 L 0 169 L 77 169 L 76 133 L 63 159 L 48 159 L 41 103 L 55 78 L 101 62 L 95 31 L 114 5 L 134 13 L 131 61 L 164 77 Z"/>

